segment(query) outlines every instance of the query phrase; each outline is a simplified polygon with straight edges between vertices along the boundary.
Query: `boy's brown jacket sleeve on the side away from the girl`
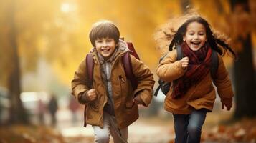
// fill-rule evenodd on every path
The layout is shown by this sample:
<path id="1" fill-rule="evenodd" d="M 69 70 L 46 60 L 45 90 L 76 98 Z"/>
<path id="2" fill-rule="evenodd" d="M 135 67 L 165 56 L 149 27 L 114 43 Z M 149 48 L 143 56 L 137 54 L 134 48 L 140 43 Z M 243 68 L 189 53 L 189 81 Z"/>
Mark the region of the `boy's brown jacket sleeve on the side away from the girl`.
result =
<path id="1" fill-rule="evenodd" d="M 87 70 L 85 60 L 80 63 L 77 71 L 75 71 L 74 79 L 72 79 L 72 94 L 81 104 L 87 103 L 86 92 L 89 88 L 89 79 L 87 78 Z"/>

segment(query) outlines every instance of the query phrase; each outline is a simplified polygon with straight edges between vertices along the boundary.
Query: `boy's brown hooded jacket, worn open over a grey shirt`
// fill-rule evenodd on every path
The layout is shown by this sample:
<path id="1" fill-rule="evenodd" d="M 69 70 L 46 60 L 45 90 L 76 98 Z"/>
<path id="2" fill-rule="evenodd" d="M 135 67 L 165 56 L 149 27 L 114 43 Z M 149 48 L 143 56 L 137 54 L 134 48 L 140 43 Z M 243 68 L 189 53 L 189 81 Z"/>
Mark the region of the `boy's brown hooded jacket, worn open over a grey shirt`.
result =
<path id="1" fill-rule="evenodd" d="M 131 82 L 126 79 L 121 61 L 121 57 L 127 51 L 127 49 L 124 51 L 118 51 L 118 56 L 116 56 L 115 60 L 113 61 L 111 69 L 115 118 L 117 120 L 119 129 L 128 127 L 128 125 L 132 124 L 136 121 L 136 119 L 138 119 L 138 105 L 133 104 L 133 97 L 135 95 L 140 96 L 144 104 L 148 106 L 148 104 L 151 102 L 153 94 L 153 74 L 145 64 L 131 56 L 133 74 L 136 78 L 138 78 L 138 88 L 133 91 Z M 88 103 L 83 103 L 80 101 L 79 96 L 89 90 L 89 81 L 87 77 L 85 60 L 82 61 L 77 71 L 75 71 L 75 77 L 72 80 L 72 94 L 80 103 L 87 105 L 87 124 L 103 127 L 103 107 L 108 100 L 108 96 L 106 93 L 106 86 L 101 77 L 100 64 L 96 51 L 94 50 L 91 54 L 93 54 L 95 61 L 93 70 L 93 89 L 96 89 L 98 98 L 95 101 Z"/>

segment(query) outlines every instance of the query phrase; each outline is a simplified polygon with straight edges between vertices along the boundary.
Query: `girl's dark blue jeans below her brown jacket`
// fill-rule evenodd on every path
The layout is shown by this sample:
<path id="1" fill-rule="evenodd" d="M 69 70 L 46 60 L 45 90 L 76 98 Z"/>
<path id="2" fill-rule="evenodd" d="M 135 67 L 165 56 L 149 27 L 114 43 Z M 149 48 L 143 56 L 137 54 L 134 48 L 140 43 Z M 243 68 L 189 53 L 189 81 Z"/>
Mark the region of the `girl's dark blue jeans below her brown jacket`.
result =
<path id="1" fill-rule="evenodd" d="M 175 143 L 198 143 L 207 111 L 194 110 L 191 114 L 173 114 Z"/>

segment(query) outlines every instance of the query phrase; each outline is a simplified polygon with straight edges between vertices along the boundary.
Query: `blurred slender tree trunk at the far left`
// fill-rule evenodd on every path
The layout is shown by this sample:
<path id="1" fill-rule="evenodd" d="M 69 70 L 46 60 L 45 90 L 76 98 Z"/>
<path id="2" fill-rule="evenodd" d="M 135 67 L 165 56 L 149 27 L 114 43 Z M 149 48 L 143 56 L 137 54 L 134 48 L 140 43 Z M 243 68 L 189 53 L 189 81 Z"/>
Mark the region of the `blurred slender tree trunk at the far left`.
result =
<path id="1" fill-rule="evenodd" d="M 22 101 L 20 99 L 21 85 L 20 85 L 20 67 L 19 67 L 19 55 L 18 55 L 18 45 L 17 45 L 17 34 L 15 26 L 15 8 L 16 1 L 11 1 L 10 13 L 9 13 L 9 42 L 11 48 L 11 70 L 9 73 L 8 89 L 9 97 L 11 102 L 11 107 L 9 110 L 9 122 L 10 123 L 27 123 L 27 114 L 24 107 L 22 106 Z"/>

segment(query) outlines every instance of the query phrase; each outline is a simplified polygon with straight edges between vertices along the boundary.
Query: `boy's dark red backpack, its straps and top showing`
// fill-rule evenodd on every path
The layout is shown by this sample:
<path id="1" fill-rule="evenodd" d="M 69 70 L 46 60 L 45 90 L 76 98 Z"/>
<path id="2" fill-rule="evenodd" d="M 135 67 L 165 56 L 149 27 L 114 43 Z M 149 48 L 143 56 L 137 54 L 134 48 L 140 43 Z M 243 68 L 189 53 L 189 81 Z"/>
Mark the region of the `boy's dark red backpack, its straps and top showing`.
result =
<path id="1" fill-rule="evenodd" d="M 140 58 L 138 57 L 138 54 L 136 53 L 133 44 L 127 41 L 125 42 L 128 46 L 129 51 L 122 56 L 122 64 L 125 70 L 125 75 L 130 80 L 133 90 L 135 90 L 138 86 L 138 80 L 133 74 L 133 68 L 131 65 L 131 55 L 133 55 L 138 60 L 140 60 Z M 90 88 L 91 88 L 93 85 L 93 68 L 94 68 L 93 54 L 87 54 L 85 60 L 86 60 L 86 66 L 87 66 L 87 77 L 89 78 Z"/>

